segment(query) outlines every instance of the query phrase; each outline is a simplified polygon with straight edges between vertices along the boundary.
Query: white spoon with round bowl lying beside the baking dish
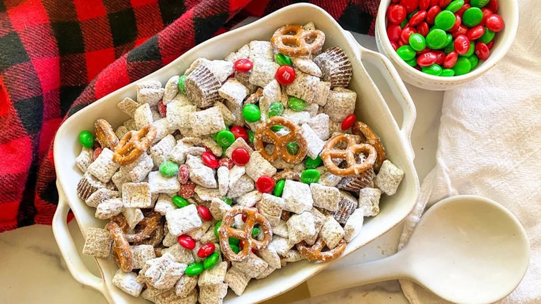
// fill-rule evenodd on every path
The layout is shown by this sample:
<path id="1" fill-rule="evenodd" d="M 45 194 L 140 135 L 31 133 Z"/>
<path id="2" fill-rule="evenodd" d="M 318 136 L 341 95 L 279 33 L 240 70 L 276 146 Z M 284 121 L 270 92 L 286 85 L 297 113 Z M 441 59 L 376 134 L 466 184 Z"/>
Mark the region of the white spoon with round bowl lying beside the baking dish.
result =
<path id="1" fill-rule="evenodd" d="M 454 303 L 493 303 L 519 285 L 529 260 L 528 238 L 511 212 L 481 196 L 452 196 L 423 215 L 402 251 L 329 270 L 309 289 L 316 296 L 405 278 Z"/>

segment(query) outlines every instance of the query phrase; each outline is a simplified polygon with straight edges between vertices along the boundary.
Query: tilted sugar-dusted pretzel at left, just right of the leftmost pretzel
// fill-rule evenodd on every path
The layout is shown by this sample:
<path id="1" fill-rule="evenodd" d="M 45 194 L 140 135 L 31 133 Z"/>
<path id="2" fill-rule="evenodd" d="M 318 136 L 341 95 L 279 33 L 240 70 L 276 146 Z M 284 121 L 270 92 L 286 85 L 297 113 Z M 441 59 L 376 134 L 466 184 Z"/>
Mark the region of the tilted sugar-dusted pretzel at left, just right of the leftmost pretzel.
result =
<path id="1" fill-rule="evenodd" d="M 141 130 L 126 133 L 114 148 L 113 160 L 119 164 L 135 162 L 151 146 L 156 133 L 156 127 L 151 124 L 144 126 Z"/>

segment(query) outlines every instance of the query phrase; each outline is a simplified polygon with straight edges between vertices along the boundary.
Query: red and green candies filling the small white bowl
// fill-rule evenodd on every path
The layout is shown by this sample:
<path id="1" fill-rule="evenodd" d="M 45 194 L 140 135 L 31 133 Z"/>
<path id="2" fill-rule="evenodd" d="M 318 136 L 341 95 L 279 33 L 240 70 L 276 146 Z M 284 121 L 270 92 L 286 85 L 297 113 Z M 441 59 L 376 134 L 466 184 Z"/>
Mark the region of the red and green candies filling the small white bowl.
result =
<path id="1" fill-rule="evenodd" d="M 392 0 L 390 44 L 408 65 L 434 76 L 467 74 L 490 56 L 504 29 L 498 0 Z"/>

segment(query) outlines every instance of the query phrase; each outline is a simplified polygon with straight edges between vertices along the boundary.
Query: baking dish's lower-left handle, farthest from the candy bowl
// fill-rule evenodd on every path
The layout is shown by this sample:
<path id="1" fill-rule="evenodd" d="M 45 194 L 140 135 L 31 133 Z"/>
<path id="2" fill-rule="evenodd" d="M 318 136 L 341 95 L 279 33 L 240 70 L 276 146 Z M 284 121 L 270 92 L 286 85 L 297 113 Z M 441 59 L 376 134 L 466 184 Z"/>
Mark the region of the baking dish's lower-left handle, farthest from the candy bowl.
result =
<path id="1" fill-rule="evenodd" d="M 74 239 L 71 237 L 67 226 L 66 217 L 68 212 L 69 205 L 66 197 L 64 196 L 61 187 L 58 187 L 58 206 L 53 217 L 53 234 L 56 243 L 60 248 L 60 253 L 62 253 L 62 257 L 64 257 L 64 260 L 66 261 L 69 272 L 75 280 L 104 294 L 105 284 L 103 279 L 94 276 L 94 274 L 87 269 L 78 254 Z"/>

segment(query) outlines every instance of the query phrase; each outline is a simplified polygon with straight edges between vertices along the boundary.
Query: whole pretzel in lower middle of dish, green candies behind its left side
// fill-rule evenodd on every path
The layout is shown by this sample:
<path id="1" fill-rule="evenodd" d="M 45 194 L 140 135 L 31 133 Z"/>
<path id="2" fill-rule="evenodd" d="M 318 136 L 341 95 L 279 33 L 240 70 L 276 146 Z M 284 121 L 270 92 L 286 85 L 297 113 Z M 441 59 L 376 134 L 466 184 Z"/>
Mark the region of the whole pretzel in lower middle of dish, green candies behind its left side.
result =
<path id="1" fill-rule="evenodd" d="M 231 227 L 235 221 L 234 218 L 239 214 L 246 216 L 243 230 Z M 259 223 L 259 229 L 263 232 L 264 237 L 261 241 L 252 238 L 252 229 L 254 228 L 255 223 Z M 222 224 L 220 228 L 218 228 L 218 234 L 220 235 L 220 248 L 223 255 L 233 262 L 245 260 L 246 257 L 248 257 L 248 254 L 252 252 L 252 248 L 257 250 L 266 248 L 268 244 L 271 244 L 273 239 L 271 224 L 268 223 L 267 219 L 259 214 L 255 208 L 247 208 L 239 205 L 231 208 L 225 213 Z M 230 237 L 241 239 L 243 242 L 242 251 L 239 253 L 234 253 L 232 251 L 229 246 Z"/>

